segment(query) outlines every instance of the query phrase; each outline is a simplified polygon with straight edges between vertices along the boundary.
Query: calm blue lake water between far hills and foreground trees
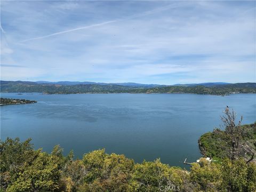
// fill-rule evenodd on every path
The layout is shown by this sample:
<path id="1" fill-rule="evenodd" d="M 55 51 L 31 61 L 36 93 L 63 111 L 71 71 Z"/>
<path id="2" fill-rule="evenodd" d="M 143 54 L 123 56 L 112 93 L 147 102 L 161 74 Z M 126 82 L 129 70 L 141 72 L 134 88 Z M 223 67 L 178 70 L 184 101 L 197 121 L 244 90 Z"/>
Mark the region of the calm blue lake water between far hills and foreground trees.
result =
<path id="1" fill-rule="evenodd" d="M 32 138 L 35 148 L 50 152 L 55 145 L 76 157 L 105 148 L 135 162 L 161 158 L 185 166 L 199 153 L 197 140 L 220 127 L 228 105 L 243 124 L 256 121 L 256 94 L 225 97 L 197 94 L 17 94 L 1 97 L 29 99 L 35 104 L 1 106 L 1 139 Z"/>

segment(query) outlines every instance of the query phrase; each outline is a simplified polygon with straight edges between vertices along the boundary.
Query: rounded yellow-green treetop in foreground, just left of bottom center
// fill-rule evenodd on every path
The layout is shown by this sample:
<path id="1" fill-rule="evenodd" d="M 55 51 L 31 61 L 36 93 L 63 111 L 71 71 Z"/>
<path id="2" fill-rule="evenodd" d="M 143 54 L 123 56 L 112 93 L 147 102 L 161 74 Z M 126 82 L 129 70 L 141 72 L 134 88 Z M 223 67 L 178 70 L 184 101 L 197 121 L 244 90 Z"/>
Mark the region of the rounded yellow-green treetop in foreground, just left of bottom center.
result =
<path id="1" fill-rule="evenodd" d="M 83 157 L 86 184 L 79 191 L 127 191 L 133 169 L 133 160 L 124 155 L 106 154 L 95 150 Z"/>

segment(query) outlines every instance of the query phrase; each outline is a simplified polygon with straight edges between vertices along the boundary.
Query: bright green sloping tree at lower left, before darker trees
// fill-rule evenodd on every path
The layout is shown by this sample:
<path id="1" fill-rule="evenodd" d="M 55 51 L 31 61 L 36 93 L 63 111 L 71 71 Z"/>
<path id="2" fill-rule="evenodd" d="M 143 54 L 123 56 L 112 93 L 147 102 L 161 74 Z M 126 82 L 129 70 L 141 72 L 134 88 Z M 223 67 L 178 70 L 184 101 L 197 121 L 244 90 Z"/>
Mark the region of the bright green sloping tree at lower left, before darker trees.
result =
<path id="1" fill-rule="evenodd" d="M 59 188 L 60 169 L 59 159 L 55 156 L 42 153 L 31 164 L 25 162 L 12 183 L 7 187 L 7 192 L 34 192 L 56 191 Z"/>

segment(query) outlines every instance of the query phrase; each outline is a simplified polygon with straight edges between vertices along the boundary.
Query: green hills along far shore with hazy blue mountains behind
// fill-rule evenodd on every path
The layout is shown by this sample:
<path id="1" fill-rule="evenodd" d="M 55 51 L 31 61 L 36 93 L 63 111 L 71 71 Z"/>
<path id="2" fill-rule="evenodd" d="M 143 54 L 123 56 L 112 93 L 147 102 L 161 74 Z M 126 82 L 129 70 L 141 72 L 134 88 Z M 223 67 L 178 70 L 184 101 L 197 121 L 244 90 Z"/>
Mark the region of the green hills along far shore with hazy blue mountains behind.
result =
<path id="1" fill-rule="evenodd" d="M 1 92 L 7 93 L 194 93 L 217 94 L 256 93 L 256 83 L 200 83 L 156 85 L 138 83 L 94 83 L 94 82 L 25 82 L 0 81 Z"/>

